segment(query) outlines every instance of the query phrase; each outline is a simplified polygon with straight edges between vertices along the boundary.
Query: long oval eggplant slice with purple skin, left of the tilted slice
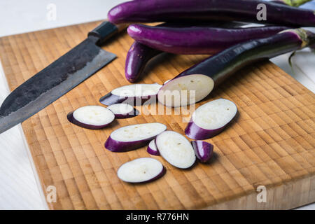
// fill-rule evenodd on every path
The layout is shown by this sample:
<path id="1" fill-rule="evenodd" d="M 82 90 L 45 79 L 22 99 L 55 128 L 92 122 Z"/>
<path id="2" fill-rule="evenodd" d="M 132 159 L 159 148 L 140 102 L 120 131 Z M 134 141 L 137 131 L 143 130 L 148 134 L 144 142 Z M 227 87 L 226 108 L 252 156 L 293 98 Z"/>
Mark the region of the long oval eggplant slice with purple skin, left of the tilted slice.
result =
<path id="1" fill-rule="evenodd" d="M 112 152 L 126 152 L 149 144 L 152 139 L 167 130 L 161 123 L 145 123 L 120 127 L 111 132 L 105 148 Z"/>

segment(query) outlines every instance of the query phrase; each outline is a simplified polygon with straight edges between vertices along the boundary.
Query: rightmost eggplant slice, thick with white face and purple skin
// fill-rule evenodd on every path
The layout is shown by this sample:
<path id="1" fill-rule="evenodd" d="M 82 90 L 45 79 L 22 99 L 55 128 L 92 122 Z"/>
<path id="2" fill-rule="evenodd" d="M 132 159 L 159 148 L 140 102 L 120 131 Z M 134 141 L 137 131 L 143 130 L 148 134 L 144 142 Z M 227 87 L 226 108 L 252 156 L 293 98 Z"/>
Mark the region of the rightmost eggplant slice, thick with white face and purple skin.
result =
<path id="1" fill-rule="evenodd" d="M 237 106 L 228 99 L 216 99 L 198 107 L 185 129 L 190 139 L 210 139 L 224 130 L 237 114 Z"/>

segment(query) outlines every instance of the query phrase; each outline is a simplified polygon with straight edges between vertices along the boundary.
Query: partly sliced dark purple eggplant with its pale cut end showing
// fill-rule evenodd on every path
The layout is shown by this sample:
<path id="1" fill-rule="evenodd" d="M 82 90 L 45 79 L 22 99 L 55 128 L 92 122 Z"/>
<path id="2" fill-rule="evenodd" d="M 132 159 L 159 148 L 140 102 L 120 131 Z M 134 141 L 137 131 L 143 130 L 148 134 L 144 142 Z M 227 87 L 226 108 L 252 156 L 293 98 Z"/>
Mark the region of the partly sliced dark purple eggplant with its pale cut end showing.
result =
<path id="1" fill-rule="evenodd" d="M 315 34 L 311 31 L 288 29 L 274 36 L 233 45 L 167 82 L 160 88 L 158 100 L 165 106 L 194 104 L 207 97 L 214 87 L 246 64 L 299 50 L 314 43 Z"/>

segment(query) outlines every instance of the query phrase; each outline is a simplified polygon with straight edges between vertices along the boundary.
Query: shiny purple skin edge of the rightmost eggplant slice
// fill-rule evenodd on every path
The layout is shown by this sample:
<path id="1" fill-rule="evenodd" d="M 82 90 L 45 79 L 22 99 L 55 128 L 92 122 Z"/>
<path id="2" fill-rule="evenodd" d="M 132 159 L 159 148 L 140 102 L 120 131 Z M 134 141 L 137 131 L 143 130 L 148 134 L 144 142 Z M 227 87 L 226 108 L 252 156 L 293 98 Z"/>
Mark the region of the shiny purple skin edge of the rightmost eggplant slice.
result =
<path id="1" fill-rule="evenodd" d="M 191 119 L 185 129 L 185 134 L 190 139 L 198 140 L 211 139 L 212 137 L 215 137 L 216 135 L 223 132 L 223 130 L 225 130 L 225 127 L 228 126 L 228 124 L 215 130 L 206 130 L 202 127 L 197 126 L 193 122 L 193 119 Z"/>

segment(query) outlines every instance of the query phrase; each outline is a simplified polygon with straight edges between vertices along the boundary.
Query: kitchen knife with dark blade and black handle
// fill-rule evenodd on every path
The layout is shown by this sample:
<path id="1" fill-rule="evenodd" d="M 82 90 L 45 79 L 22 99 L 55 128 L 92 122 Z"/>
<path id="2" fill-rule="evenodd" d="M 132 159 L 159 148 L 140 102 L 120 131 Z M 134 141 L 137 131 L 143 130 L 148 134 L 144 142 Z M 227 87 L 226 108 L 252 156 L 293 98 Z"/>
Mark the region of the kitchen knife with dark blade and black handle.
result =
<path id="1" fill-rule="evenodd" d="M 99 45 L 125 27 L 102 22 L 82 43 L 18 86 L 1 105 L 0 133 L 55 102 L 115 59 L 116 55 Z"/>

